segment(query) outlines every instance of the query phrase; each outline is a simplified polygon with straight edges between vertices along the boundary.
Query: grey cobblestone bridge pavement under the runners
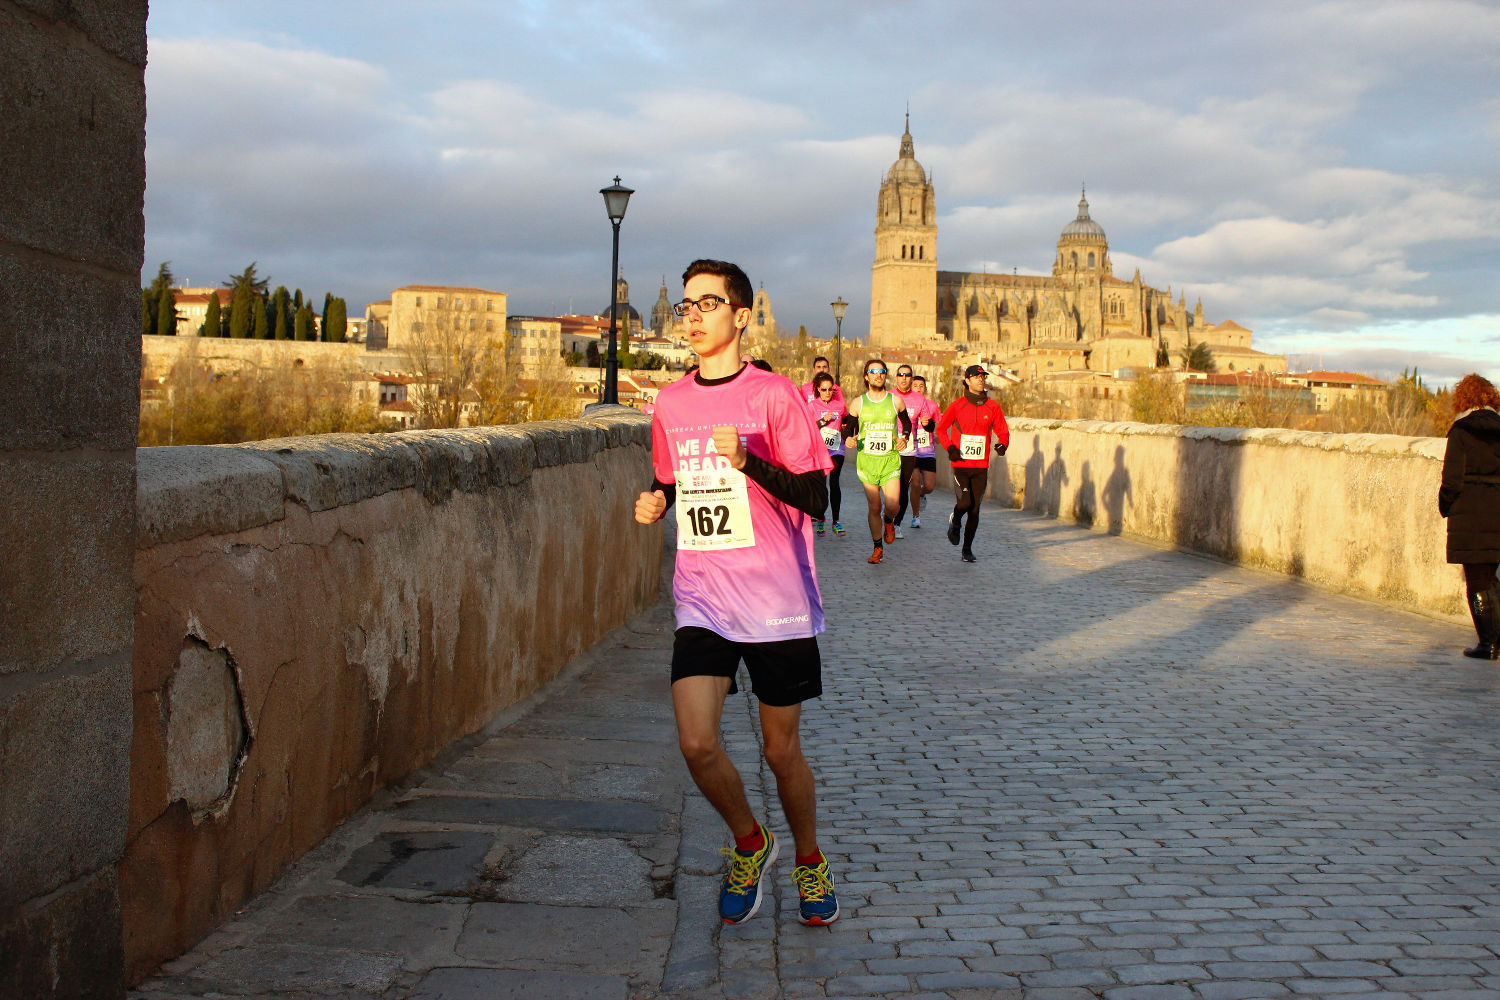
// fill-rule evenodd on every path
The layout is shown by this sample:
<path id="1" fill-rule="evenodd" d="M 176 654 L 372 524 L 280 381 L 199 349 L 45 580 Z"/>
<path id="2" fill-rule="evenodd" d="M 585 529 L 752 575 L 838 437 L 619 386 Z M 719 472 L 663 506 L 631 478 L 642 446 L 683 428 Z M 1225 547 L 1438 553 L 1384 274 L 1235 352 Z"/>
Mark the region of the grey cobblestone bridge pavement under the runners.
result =
<path id="1" fill-rule="evenodd" d="M 858 517 L 818 543 L 834 927 L 789 859 L 718 925 L 663 603 L 132 996 L 1500 997 L 1467 630 L 1018 511 L 964 565 L 938 510 L 882 565 Z M 724 738 L 786 832 L 752 712 Z"/>

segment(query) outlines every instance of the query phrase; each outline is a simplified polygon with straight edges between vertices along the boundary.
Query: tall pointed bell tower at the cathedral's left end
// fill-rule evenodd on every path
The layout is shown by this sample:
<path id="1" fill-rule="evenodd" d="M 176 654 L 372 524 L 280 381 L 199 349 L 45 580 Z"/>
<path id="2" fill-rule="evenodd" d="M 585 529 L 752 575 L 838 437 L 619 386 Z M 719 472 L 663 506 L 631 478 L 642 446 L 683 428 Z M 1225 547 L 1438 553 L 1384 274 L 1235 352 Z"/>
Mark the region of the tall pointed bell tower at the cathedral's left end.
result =
<path id="1" fill-rule="evenodd" d="M 880 181 L 870 268 L 870 346 L 938 339 L 938 204 L 916 162 L 910 114 L 902 150 Z"/>

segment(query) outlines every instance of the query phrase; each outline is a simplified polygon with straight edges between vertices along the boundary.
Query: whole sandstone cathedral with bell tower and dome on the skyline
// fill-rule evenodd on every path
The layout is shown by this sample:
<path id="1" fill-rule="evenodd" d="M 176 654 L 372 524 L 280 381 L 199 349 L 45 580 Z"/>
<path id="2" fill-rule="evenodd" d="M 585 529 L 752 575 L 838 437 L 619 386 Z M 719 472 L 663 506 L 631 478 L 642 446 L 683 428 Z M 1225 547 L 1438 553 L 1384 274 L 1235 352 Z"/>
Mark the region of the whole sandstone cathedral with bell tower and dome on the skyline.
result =
<path id="1" fill-rule="evenodd" d="M 876 202 L 872 346 L 957 346 L 1036 378 L 1172 364 L 1184 348 L 1208 343 L 1221 372 L 1286 370 L 1284 358 L 1251 349 L 1250 330 L 1208 324 L 1202 301 L 1190 310 L 1185 295 L 1173 301 L 1138 268 L 1116 277 L 1086 195 L 1058 237 L 1052 274 L 939 270 L 932 175 L 916 162 L 908 117 Z"/>

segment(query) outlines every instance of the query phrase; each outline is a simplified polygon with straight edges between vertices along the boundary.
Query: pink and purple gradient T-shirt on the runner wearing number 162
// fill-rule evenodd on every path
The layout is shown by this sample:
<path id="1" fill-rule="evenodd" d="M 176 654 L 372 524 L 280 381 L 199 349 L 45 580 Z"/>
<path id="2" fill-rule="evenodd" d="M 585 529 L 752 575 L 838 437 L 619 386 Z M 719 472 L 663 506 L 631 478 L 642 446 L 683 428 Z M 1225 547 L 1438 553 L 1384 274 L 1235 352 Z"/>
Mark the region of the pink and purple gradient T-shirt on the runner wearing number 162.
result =
<path id="1" fill-rule="evenodd" d="M 687 376 L 657 396 L 651 463 L 657 480 L 678 472 L 729 468 L 712 445 L 714 427 L 740 429 L 746 450 L 789 472 L 832 468 L 807 402 L 790 379 L 746 366 L 726 382 Z M 698 625 L 734 642 L 807 639 L 824 631 L 822 594 L 813 561 L 813 520 L 746 477 L 754 544 L 742 549 L 678 549 L 672 597 L 676 627 Z M 681 496 L 678 498 L 681 502 Z"/>

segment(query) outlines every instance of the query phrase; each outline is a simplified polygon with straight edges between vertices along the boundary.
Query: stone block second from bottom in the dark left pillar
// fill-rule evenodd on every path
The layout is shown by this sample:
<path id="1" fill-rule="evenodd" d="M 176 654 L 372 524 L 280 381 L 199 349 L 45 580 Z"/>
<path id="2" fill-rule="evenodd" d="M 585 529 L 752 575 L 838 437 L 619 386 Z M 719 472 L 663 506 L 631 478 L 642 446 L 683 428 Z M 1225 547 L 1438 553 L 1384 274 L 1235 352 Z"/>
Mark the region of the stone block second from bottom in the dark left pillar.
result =
<path id="1" fill-rule="evenodd" d="M 112 870 L 130 792 L 128 657 L 9 685 L 20 690 L 0 694 L 0 913 Z"/>

